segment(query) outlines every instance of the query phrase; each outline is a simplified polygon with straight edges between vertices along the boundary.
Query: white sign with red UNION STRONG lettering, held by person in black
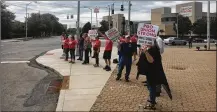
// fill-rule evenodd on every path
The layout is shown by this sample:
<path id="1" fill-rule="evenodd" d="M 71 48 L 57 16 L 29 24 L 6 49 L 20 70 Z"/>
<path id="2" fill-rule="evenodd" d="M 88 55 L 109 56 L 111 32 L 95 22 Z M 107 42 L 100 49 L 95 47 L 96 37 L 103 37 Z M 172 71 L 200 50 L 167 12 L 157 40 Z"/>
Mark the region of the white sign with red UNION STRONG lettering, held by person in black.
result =
<path id="1" fill-rule="evenodd" d="M 137 29 L 138 41 L 141 47 L 145 45 L 153 45 L 157 38 L 159 26 L 152 24 L 139 23 Z"/>

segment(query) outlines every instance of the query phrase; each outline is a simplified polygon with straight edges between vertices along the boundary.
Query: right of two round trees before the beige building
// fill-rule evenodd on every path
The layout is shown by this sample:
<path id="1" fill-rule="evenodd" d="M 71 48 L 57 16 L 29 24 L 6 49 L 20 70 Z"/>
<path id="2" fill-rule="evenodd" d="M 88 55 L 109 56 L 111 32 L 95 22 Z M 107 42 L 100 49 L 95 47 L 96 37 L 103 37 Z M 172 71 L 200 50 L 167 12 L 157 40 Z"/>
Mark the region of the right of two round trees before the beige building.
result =
<path id="1" fill-rule="evenodd" d="M 207 21 L 206 19 L 198 19 L 193 23 L 192 31 L 194 34 L 198 34 L 200 37 L 202 34 L 207 33 Z"/>

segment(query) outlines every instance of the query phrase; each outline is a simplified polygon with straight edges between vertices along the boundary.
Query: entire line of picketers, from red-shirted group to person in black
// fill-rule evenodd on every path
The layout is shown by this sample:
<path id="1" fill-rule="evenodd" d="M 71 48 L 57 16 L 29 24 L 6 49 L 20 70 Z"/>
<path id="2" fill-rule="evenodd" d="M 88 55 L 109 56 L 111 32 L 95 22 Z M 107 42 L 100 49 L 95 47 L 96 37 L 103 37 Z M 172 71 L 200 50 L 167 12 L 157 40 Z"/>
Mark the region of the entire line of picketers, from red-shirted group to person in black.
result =
<path id="1" fill-rule="evenodd" d="M 99 32 L 99 35 L 95 39 L 90 39 L 87 33 L 84 33 L 79 40 L 75 40 L 74 36 L 68 38 L 62 35 L 63 50 L 65 53 L 65 61 L 68 61 L 68 52 L 71 55 L 71 63 L 75 63 L 75 46 L 79 49 L 79 58 L 77 60 L 83 60 L 83 52 L 85 52 L 84 62 L 82 64 L 89 64 L 89 52 L 91 49 L 94 51 L 92 58 L 95 58 L 96 63 L 94 67 L 99 67 L 99 52 L 101 47 L 101 41 L 99 37 L 105 38 L 105 49 L 103 59 L 106 66 L 103 68 L 106 71 L 111 70 L 111 54 L 113 48 L 113 42 L 104 34 Z M 137 60 L 137 48 L 139 47 L 139 60 L 136 64 L 138 67 L 138 73 L 145 75 L 147 81 L 144 81 L 149 90 L 149 102 L 146 107 L 155 108 L 156 97 L 160 96 L 161 84 L 167 83 L 166 76 L 163 70 L 161 54 L 164 52 L 164 43 L 162 39 L 158 37 L 154 40 L 153 45 L 139 46 L 137 45 L 138 36 L 134 35 L 122 35 L 118 38 L 118 73 L 116 80 L 121 80 L 121 75 L 124 67 L 126 66 L 125 81 L 129 82 L 129 76 L 131 72 L 132 62 Z M 93 46 L 93 47 L 92 47 Z M 134 59 L 133 59 L 134 58 Z"/>

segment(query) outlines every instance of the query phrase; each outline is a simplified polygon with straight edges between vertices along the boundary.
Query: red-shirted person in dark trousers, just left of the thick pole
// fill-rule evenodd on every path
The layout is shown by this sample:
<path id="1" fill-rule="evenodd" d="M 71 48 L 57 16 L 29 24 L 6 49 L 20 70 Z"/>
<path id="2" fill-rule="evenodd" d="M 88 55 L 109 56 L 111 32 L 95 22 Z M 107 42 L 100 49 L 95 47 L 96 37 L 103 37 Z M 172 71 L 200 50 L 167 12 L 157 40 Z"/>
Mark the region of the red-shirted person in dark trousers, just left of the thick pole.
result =
<path id="1" fill-rule="evenodd" d="M 75 46 L 77 45 L 77 40 L 75 40 L 74 36 L 70 36 L 69 38 L 69 52 L 71 56 L 70 63 L 75 63 Z"/>

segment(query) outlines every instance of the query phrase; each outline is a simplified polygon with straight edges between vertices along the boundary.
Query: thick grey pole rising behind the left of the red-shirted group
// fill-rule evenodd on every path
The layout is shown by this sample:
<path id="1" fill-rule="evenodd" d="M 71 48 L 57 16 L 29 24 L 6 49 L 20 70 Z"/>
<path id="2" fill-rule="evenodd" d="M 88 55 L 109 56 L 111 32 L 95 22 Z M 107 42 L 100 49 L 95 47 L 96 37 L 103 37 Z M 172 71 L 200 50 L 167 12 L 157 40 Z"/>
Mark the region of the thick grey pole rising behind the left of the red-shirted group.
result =
<path id="1" fill-rule="evenodd" d="M 78 1 L 78 9 L 77 9 L 77 39 L 80 39 L 80 1 Z M 79 56 L 79 49 L 76 49 L 76 56 Z"/>

